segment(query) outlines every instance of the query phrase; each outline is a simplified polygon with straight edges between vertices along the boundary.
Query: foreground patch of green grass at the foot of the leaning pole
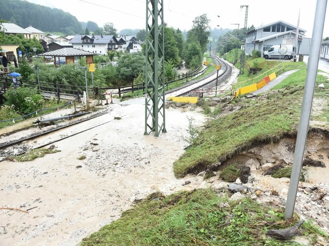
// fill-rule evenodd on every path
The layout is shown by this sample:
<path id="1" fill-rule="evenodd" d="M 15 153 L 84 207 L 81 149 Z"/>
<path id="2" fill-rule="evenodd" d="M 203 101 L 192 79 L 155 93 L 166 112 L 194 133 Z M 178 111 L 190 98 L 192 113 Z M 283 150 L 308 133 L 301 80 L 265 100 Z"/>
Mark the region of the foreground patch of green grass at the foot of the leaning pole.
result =
<path id="1" fill-rule="evenodd" d="M 302 245 L 265 235 L 270 229 L 287 228 L 299 220 L 296 214 L 284 220 L 283 213 L 280 206 L 259 204 L 250 198 L 234 201 L 227 193 L 211 189 L 167 197 L 154 193 L 119 220 L 83 239 L 81 245 Z M 301 233 L 323 236 L 312 223 L 305 224 Z"/>

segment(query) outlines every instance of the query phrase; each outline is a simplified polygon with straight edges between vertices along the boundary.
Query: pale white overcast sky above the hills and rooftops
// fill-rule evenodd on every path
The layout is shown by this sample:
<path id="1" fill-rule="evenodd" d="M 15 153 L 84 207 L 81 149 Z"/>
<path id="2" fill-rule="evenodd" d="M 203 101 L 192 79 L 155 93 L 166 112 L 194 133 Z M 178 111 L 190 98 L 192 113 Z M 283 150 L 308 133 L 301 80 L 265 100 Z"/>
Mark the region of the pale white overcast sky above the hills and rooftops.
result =
<path id="1" fill-rule="evenodd" d="M 28 2 L 62 9 L 77 17 L 80 22 L 91 20 L 103 27 L 113 23 L 118 32 L 122 29 L 145 29 L 146 0 L 27 0 Z M 318 0 L 324 1 L 324 0 Z M 259 27 L 283 20 L 306 30 L 306 37 L 312 37 L 316 0 L 163 0 L 163 18 L 169 27 L 190 30 L 193 19 L 207 14 L 212 29 L 234 29 L 244 27 L 248 6 L 247 26 Z M 218 17 L 218 15 L 220 17 Z M 323 37 L 329 36 L 329 11 L 326 9 Z"/>

